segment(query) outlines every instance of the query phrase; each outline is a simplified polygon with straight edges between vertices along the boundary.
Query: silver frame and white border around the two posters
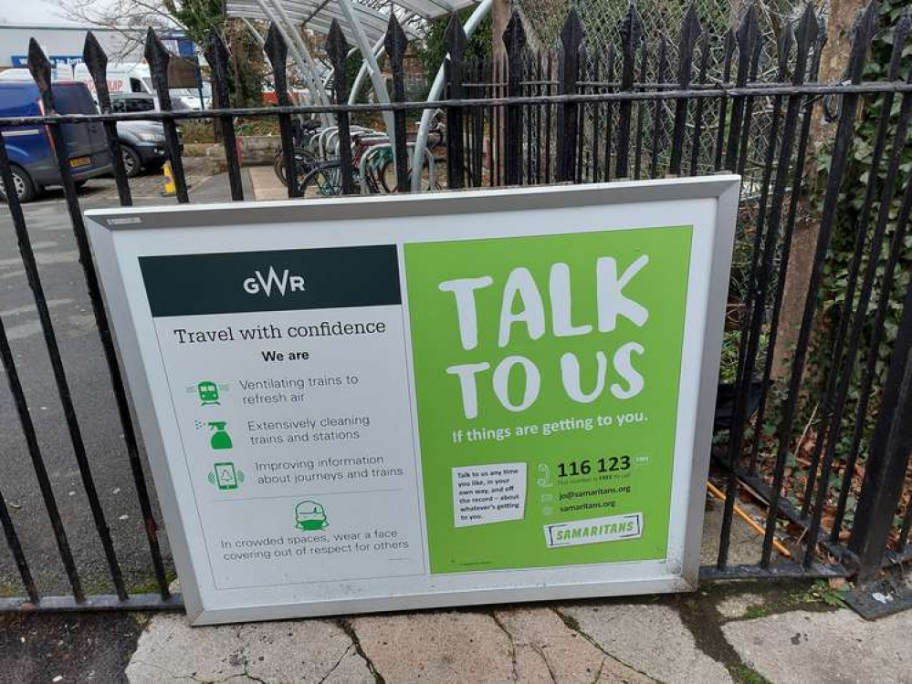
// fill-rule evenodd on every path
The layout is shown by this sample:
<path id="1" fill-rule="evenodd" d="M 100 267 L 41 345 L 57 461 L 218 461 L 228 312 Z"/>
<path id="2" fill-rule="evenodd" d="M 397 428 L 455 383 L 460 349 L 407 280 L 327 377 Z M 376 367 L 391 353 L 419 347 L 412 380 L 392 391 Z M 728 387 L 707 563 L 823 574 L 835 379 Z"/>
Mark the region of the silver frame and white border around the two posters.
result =
<path id="1" fill-rule="evenodd" d="M 121 207 L 86 212 L 89 240 L 194 625 L 385 610 L 689 591 L 697 587 L 718 363 L 740 178 L 629 181 L 295 202 Z M 663 220 L 662 217 L 666 218 Z M 667 218 L 672 217 L 671 219 Z M 433 218 L 434 221 L 428 221 Z M 169 461 L 176 417 L 162 401 L 162 357 L 138 255 L 584 233 L 693 224 L 678 397 L 668 557 L 600 565 L 216 591 L 185 469 Z M 429 227 L 429 224 L 433 224 Z M 203 245 L 202 247 L 194 245 Z M 216 246 L 217 245 L 217 246 Z M 402 259 L 400 249 L 400 260 Z M 402 262 L 400 262 L 402 263 Z M 407 296 L 403 307 L 407 311 Z M 152 330 L 152 335 L 150 334 Z M 687 358 L 687 352 L 692 355 Z M 156 356 L 158 355 L 158 356 Z M 411 347 L 408 345 L 411 370 Z M 410 372 L 410 376 L 413 374 Z M 414 383 L 414 377 L 409 378 Z M 411 410 L 414 406 L 412 393 Z M 170 403 L 169 403 L 170 406 Z M 415 441 L 417 441 L 415 437 Z M 420 474 L 420 451 L 415 468 Z M 183 459 L 183 451 L 181 452 Z M 181 461 L 183 463 L 183 461 Z M 418 478 L 419 482 L 421 478 Z M 424 500 L 421 523 L 426 531 Z M 345 588 L 340 588 L 341 585 Z"/>

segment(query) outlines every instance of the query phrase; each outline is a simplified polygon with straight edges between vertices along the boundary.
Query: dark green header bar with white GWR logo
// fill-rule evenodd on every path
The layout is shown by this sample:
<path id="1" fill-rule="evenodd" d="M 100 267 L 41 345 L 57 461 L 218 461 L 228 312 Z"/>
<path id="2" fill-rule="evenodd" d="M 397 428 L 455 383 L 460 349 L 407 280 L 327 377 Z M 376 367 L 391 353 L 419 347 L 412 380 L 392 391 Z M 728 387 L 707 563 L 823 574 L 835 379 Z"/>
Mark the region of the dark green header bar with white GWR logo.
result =
<path id="1" fill-rule="evenodd" d="M 152 316 L 402 304 L 395 245 L 140 257 Z"/>

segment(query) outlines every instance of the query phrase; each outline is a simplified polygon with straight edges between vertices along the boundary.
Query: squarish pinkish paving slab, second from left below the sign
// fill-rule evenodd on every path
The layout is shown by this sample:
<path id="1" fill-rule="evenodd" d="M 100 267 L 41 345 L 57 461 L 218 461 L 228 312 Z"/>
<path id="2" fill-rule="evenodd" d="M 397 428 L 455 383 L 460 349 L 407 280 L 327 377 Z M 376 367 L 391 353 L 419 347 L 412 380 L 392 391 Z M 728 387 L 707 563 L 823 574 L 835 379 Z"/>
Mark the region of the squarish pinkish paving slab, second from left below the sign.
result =
<path id="1" fill-rule="evenodd" d="M 516 681 L 507 633 L 487 613 L 355 617 L 349 621 L 364 655 L 396 684 Z"/>

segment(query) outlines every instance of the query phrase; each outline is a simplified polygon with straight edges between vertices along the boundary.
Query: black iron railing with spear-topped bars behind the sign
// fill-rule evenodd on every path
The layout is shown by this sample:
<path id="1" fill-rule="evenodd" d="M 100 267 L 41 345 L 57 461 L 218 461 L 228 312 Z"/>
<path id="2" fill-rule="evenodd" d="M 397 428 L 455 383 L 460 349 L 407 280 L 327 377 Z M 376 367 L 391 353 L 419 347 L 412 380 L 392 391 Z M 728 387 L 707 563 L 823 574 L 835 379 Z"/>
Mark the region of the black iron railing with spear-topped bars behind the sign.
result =
<path id="1" fill-rule="evenodd" d="M 655 54 L 651 54 L 653 47 L 643 40 L 642 23 L 634 5 L 630 5 L 624 17 L 620 44 L 607 53 L 587 54 L 586 37 L 575 10 L 567 18 L 561 32 L 561 46 L 556 51 L 529 49 L 522 21 L 519 15 L 514 15 L 502 36 L 506 59 L 493 61 L 464 58 L 466 35 L 454 17 L 446 31 L 449 50 L 446 96 L 431 102 L 409 102 L 405 101 L 403 73 L 407 40 L 393 16 L 386 37 L 392 102 L 328 107 L 291 103 L 286 72 L 288 48 L 278 28 L 273 26 L 265 43 L 278 96 L 278 107 L 273 108 L 227 106 L 229 54 L 222 37 L 213 32 L 206 46 L 206 59 L 212 69 L 215 101 L 219 107 L 205 111 L 171 109 L 167 83 L 171 57 L 150 29 L 146 57 L 161 109 L 121 114 L 111 113 L 107 57 L 94 36 L 89 34 L 84 57 L 97 92 L 100 107 L 97 115 L 57 113 L 50 64 L 37 43 L 32 41 L 28 64 L 41 92 L 44 116 L 0 119 L 0 130 L 47 126 L 54 141 L 68 218 L 76 236 L 110 386 L 123 427 L 123 457 L 130 465 L 142 511 L 145 542 L 149 547 L 148 571 L 157 594 L 145 593 L 148 591 L 145 590 L 130 596 L 123 580 L 107 513 L 100 503 L 74 407 L 58 333 L 49 314 L 26 213 L 15 192 L 10 192 L 10 223 L 16 232 L 26 279 L 36 302 L 68 436 L 89 502 L 90 518 L 95 534 L 99 536 L 116 596 L 89 596 L 80 580 L 68 536 L 73 531 L 68 530 L 61 519 L 22 387 L 23 375 L 37 371 L 17 365 L 0 321 L 0 360 L 59 560 L 72 592 L 71 598 L 39 594 L 30 570 L 29 550 L 20 543 L 16 524 L 0 496 L 0 523 L 25 591 L 25 596 L 0 599 L 0 609 L 180 606 L 179 596 L 172 596 L 168 588 L 170 561 L 162 553 L 158 539 L 130 403 L 100 297 L 62 128 L 71 123 L 102 124 L 119 200 L 121 205 L 130 205 L 131 187 L 121 162 L 116 124 L 136 119 L 162 122 L 164 144 L 176 184 L 176 202 L 182 203 L 190 202 L 192 192 L 183 170 L 178 125 L 191 119 L 219 123 L 227 163 L 225 199 L 231 201 L 245 199 L 243 169 L 237 153 L 236 119 L 277 119 L 288 197 L 299 199 L 302 211 L 307 211 L 310 191 L 307 183 L 301 180 L 312 169 L 300 168 L 296 125 L 302 119 L 318 114 L 328 114 L 336 121 L 337 153 L 326 163 L 331 163 L 338 171 L 339 183 L 335 192 L 340 194 L 376 189 L 362 182 L 358 169 L 353 166 L 360 134 L 353 132 L 351 118 L 365 114 L 376 116 L 383 111 L 393 113 L 393 130 L 387 132 L 391 134 L 393 185 L 399 192 L 407 192 L 412 187 L 413 173 L 422 173 L 421 168 L 413 168 L 414 153 L 409 145 L 415 143 L 409 140 L 407 120 L 411 114 L 426 109 L 441 109 L 446 120 L 446 144 L 443 146 L 446 151 L 430 153 L 432 161 L 428 163 L 446 167 L 446 174 L 441 175 L 445 176 L 443 185 L 449 190 L 738 171 L 746 178 L 739 240 L 748 244 L 750 256 L 746 295 L 737 303 L 738 362 L 734 406 L 727 446 L 717 454 L 719 476 L 726 488 L 718 556 L 715 564 L 703 568 L 702 576 L 857 574 L 870 579 L 882 565 L 912 557 L 907 546 L 912 506 L 903 502 L 903 485 L 912 451 L 912 421 L 907 420 L 912 415 L 912 289 L 905 298 L 896 340 L 888 343 L 883 336 L 886 312 L 893 301 L 891 288 L 900 282 L 899 269 L 908 261 L 905 240 L 912 212 L 912 183 L 906 182 L 902 186 L 900 181 L 908 178 L 907 171 L 902 168 L 902 154 L 907 147 L 912 115 L 912 82 L 907 74 L 901 73 L 900 67 L 902 52 L 907 49 L 910 21 L 904 16 L 896 26 L 880 26 L 878 20 L 875 5 L 869 5 L 859 16 L 844 82 L 831 84 L 818 82 L 826 36 L 811 5 L 794 26 L 781 30 L 775 47 L 764 45 L 758 16 L 752 7 L 747 9 L 737 29 L 725 36 L 710 36 L 701 28 L 696 10 L 691 8 L 678 35 L 671 41 L 673 49 L 663 39 L 654 50 Z M 883 31 L 893 36 L 895 57 L 885 80 L 865 80 L 869 47 L 878 32 Z M 718 74 L 709 73 L 709 57 L 713 50 L 722 57 Z M 333 96 L 337 103 L 343 103 L 349 96 L 345 76 L 349 46 L 335 23 L 326 52 L 334 72 Z M 676 53 L 676 60 L 670 53 Z M 774 78 L 761 79 L 761 66 L 770 67 L 770 64 Z M 835 111 L 832 106 L 823 107 L 823 98 L 838 103 Z M 897 98 L 900 100 L 898 109 L 891 114 L 891 110 L 896 109 Z M 815 325 L 821 316 L 818 299 L 824 270 L 830 263 L 833 231 L 842 215 L 841 192 L 854 149 L 860 106 L 876 107 L 882 113 L 871 154 L 869 178 L 865 181 L 864 203 L 854 224 L 856 239 L 845 277 L 845 304 L 833 321 L 833 344 L 829 349 L 830 362 L 815 429 L 818 439 L 806 480 L 796 486 L 795 482 L 790 482 L 787 466 L 795 444 L 795 422 L 802 410 L 802 383 L 808 353 Z M 826 187 L 820 197 L 820 210 L 816 212 L 805 206 L 812 203 L 806 170 L 810 162 L 812 124 L 822 114 L 835 116 L 836 122 L 829 143 L 831 158 L 825 175 Z M 9 189 L 14 187 L 14 178 L 7 144 L 0 137 L 0 178 Z M 898 210 L 891 213 L 897 202 Z M 816 246 L 802 294 L 804 305 L 798 323 L 797 344 L 790 356 L 790 368 L 780 381 L 784 398 L 777 404 L 776 434 L 770 445 L 760 438 L 760 428 L 770 421 L 772 414 L 773 349 L 781 335 L 789 263 L 802 207 L 805 212 L 812 212 Z M 869 230 L 871 227 L 873 230 Z M 873 330 L 870 338 L 866 338 L 867 356 L 859 358 L 867 329 Z M 878 402 L 873 439 L 868 446 L 864 443 L 865 418 L 871 408 L 879 353 L 887 344 L 892 344 L 892 357 L 883 385 L 883 398 Z M 863 372 L 856 378 L 854 369 L 859 364 Z M 760 394 L 757 401 L 751 403 L 755 387 L 760 388 Z M 848 400 L 852 389 L 859 398 L 854 402 Z M 839 439 L 846 430 L 852 434 L 847 450 L 840 446 Z M 771 450 L 768 458 L 761 458 L 766 450 Z M 855 492 L 853 473 L 862 460 L 865 462 L 864 483 L 860 491 Z M 11 475 L 5 473 L 5 476 Z M 0 488 L 3 484 L 0 479 Z M 764 529 L 758 537 L 759 560 L 750 565 L 730 565 L 729 543 L 735 506 L 739 492 L 745 490 L 753 492 L 762 503 L 756 513 Z M 851 492 L 856 496 L 850 497 Z M 858 503 L 851 511 L 854 524 L 846 539 L 842 533 L 846 514 L 851 508 L 850 498 L 856 498 Z M 832 521 L 824 525 L 824 512 L 833 502 L 835 514 Z M 901 513 L 900 529 L 893 536 L 898 541 L 891 545 L 888 540 L 891 533 L 897 532 L 894 524 L 897 513 Z M 802 530 L 800 538 L 792 544 L 794 557 L 786 562 L 773 553 L 782 522 L 792 523 Z M 85 533 L 80 530 L 79 534 Z M 4 579 L 12 581 L 13 578 Z"/>

